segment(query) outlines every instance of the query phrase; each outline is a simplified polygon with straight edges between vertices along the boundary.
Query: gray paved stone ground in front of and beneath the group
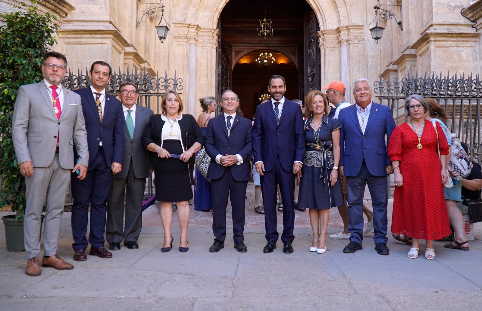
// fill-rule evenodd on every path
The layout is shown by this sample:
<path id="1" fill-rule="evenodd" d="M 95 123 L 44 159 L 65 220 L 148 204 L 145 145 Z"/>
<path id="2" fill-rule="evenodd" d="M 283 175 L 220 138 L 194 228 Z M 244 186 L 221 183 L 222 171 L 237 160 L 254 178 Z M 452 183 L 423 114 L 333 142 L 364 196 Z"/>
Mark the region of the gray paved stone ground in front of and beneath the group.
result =
<path id="1" fill-rule="evenodd" d="M 24 272 L 25 252 L 6 251 L 0 224 L 0 310 L 481 309 L 481 224 L 475 224 L 476 241 L 470 242 L 470 251 L 445 249 L 444 242 L 436 241 L 437 257 L 431 261 L 422 254 L 409 259 L 408 246 L 391 235 L 389 256 L 376 253 L 373 234 L 365 238 L 364 249 L 354 254 L 342 252 L 348 241 L 334 239 L 327 239 L 328 252 L 316 254 L 308 251 L 308 211 L 296 211 L 295 252 L 283 254 L 279 244 L 274 253 L 264 254 L 263 216 L 252 212 L 254 199 L 248 197 L 247 253 L 233 248 L 232 229 L 225 249 L 209 253 L 213 241 L 210 213 L 194 211 L 189 251 L 177 250 L 179 227 L 174 220 L 174 249 L 161 253 L 159 212 L 150 207 L 143 215 L 140 249 L 122 248 L 113 252 L 112 259 L 88 256 L 87 261 L 76 262 L 70 246 L 70 213 L 66 212 L 58 253 L 75 269 L 42 268 L 37 277 Z M 5 214 L 0 212 L 0 216 Z M 341 227 L 333 209 L 328 232 Z"/>

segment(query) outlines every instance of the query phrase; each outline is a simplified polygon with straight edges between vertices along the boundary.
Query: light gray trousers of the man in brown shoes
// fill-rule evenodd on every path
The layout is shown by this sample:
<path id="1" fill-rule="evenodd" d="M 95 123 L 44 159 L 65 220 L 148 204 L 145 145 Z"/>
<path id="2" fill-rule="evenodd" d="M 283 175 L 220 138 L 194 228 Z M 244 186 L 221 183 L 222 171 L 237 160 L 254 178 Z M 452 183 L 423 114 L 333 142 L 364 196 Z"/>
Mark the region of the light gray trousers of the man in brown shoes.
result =
<path id="1" fill-rule="evenodd" d="M 70 183 L 70 171 L 60 167 L 59 155 L 55 153 L 48 167 L 34 167 L 33 176 L 25 177 L 27 206 L 25 207 L 24 244 L 27 259 L 40 254 L 40 217 L 44 204 L 47 206 L 43 225 L 44 255 L 52 256 L 57 253 L 60 220 Z"/>

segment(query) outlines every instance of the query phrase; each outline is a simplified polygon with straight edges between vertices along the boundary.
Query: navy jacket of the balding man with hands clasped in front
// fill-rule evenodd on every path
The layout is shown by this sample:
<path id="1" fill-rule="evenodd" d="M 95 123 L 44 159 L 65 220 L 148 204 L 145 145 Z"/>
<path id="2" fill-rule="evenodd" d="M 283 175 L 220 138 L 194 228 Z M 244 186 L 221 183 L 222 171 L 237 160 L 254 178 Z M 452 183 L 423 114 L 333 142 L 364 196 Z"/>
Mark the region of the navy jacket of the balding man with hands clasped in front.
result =
<path id="1" fill-rule="evenodd" d="M 224 174 L 226 167 L 216 162 L 218 154 L 239 154 L 243 160 L 242 164 L 230 166 L 231 174 L 237 181 L 248 181 L 251 175 L 251 167 L 248 159 L 253 152 L 253 129 L 251 121 L 236 115 L 229 132 L 226 127 L 224 113 L 211 119 L 206 129 L 206 142 L 204 149 L 211 157 L 209 164 L 208 179 L 218 179 Z"/>

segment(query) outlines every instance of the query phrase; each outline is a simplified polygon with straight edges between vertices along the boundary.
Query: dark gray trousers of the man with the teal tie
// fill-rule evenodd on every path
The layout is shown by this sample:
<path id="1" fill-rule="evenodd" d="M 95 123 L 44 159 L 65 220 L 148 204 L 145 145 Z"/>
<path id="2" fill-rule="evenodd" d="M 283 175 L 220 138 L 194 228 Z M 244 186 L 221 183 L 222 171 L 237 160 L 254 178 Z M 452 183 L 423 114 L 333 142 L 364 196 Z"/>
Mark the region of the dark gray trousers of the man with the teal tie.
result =
<path id="1" fill-rule="evenodd" d="M 145 187 L 146 178 L 135 178 L 132 160 L 126 177 L 113 178 L 107 197 L 107 243 L 122 240 L 124 243 L 137 242 L 142 229 L 142 199 Z"/>

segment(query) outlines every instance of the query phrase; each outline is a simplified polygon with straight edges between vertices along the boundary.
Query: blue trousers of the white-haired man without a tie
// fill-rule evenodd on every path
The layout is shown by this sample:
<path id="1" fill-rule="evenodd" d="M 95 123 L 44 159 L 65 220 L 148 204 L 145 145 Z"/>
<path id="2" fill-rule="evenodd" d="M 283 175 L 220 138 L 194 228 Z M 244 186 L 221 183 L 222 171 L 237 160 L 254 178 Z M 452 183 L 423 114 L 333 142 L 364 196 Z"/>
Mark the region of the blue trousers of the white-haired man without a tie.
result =
<path id="1" fill-rule="evenodd" d="M 387 176 L 370 174 L 365 161 L 357 176 L 347 176 L 348 231 L 350 241 L 362 244 L 363 241 L 363 195 L 368 185 L 373 205 L 373 228 L 375 244 L 387 243 Z"/>

